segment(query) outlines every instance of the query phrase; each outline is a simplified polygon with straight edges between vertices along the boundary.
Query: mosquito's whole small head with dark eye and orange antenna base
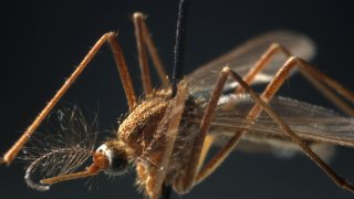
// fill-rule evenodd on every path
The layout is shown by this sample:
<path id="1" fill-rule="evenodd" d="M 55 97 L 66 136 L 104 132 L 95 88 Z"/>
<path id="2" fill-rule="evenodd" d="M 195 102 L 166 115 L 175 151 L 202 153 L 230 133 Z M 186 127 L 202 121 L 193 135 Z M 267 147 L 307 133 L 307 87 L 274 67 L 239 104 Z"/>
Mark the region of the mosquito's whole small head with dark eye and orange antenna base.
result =
<path id="1" fill-rule="evenodd" d="M 123 148 L 101 145 L 93 156 L 93 163 L 105 174 L 119 176 L 128 169 L 128 157 Z"/>

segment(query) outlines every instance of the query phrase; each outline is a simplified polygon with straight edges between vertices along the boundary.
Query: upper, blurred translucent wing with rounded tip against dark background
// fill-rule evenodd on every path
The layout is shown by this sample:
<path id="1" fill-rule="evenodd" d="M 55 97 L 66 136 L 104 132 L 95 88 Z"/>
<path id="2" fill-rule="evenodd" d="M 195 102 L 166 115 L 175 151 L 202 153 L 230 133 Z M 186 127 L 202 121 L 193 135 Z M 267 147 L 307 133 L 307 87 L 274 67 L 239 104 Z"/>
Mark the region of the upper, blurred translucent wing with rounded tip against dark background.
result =
<path id="1" fill-rule="evenodd" d="M 315 54 L 313 42 L 305 35 L 289 31 L 269 32 L 249 40 L 229 53 L 200 66 L 186 77 L 188 85 L 196 93 L 208 91 L 215 85 L 218 73 L 227 65 L 243 76 L 272 43 L 285 46 L 293 55 L 306 61 Z M 285 61 L 287 57 L 283 54 L 277 53 L 264 71 L 256 77 L 254 83 L 269 82 Z M 232 87 L 231 80 L 229 81 L 227 88 Z"/>

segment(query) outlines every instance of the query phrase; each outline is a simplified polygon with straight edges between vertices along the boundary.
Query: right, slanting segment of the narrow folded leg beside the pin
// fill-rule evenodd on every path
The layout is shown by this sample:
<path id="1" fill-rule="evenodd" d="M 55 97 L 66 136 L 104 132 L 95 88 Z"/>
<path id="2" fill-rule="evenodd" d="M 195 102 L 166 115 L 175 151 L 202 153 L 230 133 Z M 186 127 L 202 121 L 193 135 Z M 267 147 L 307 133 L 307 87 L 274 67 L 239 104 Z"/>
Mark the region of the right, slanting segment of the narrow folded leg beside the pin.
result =
<path id="1" fill-rule="evenodd" d="M 143 35 L 144 35 L 144 42 L 146 44 L 147 51 L 148 51 L 148 53 L 152 57 L 152 61 L 154 63 L 154 67 L 155 67 L 156 72 L 163 83 L 163 86 L 168 87 L 168 85 L 169 85 L 168 76 L 164 70 L 165 67 L 164 67 L 163 62 L 157 53 L 156 45 L 154 44 L 154 41 L 150 36 L 149 30 L 145 23 L 144 18 L 142 19 L 142 31 L 143 31 Z"/>

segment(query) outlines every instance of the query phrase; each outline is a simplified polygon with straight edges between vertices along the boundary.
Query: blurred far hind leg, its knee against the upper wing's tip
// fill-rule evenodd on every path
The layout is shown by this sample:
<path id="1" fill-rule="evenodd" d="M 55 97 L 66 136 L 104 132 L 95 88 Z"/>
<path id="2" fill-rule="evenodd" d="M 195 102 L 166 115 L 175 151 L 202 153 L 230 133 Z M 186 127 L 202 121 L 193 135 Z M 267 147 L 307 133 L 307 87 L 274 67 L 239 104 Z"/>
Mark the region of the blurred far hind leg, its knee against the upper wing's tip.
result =
<path id="1" fill-rule="evenodd" d="M 278 43 L 271 44 L 268 48 L 268 50 L 262 54 L 262 56 L 258 60 L 254 66 L 248 72 L 248 74 L 244 75 L 244 82 L 251 84 L 252 81 L 256 78 L 256 75 L 267 66 L 267 63 L 274 56 L 275 53 L 283 53 L 287 57 L 291 57 L 291 52 L 289 52 L 285 48 Z M 302 60 L 302 62 L 304 61 Z M 301 74 L 304 75 L 304 77 L 306 77 L 310 81 L 310 83 L 314 87 L 316 87 L 334 105 L 336 105 L 344 113 L 353 116 L 354 109 L 350 105 L 347 105 L 347 103 L 345 103 L 342 98 L 340 98 L 335 94 L 335 92 L 341 94 L 352 103 L 354 102 L 354 94 L 344 88 L 341 84 L 339 84 L 331 77 L 324 75 L 320 71 L 316 71 L 315 69 L 310 66 L 306 62 L 304 62 L 303 65 L 306 65 L 306 69 L 301 69 Z M 331 87 L 332 90 L 330 90 L 329 87 Z M 242 92 L 242 87 L 237 87 L 236 93 L 240 93 Z"/>

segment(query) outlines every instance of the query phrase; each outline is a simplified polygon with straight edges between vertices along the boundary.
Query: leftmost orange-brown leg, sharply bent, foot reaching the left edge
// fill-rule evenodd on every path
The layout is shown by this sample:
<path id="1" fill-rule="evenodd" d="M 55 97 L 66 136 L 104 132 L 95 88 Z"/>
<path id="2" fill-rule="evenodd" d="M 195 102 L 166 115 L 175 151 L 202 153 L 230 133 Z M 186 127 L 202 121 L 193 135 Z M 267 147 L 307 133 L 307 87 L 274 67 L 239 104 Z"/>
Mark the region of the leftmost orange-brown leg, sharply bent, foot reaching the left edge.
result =
<path id="1" fill-rule="evenodd" d="M 116 40 L 114 32 L 108 32 L 101 36 L 101 39 L 95 43 L 95 45 L 91 49 L 87 55 L 83 59 L 83 61 L 79 64 L 75 71 L 70 75 L 70 77 L 65 81 L 62 87 L 55 93 L 55 95 L 51 98 L 51 101 L 46 104 L 46 106 L 42 109 L 42 112 L 37 116 L 33 123 L 25 129 L 22 136 L 12 145 L 12 147 L 4 154 L 3 158 L 0 159 L 0 164 L 10 165 L 15 156 L 19 154 L 23 145 L 29 140 L 29 138 L 33 135 L 34 130 L 39 127 L 39 125 L 43 122 L 43 119 L 48 116 L 48 114 L 53 109 L 55 104 L 62 98 L 62 96 L 66 93 L 70 86 L 76 81 L 83 70 L 87 66 L 90 61 L 95 56 L 101 46 L 108 42 L 112 48 L 114 59 L 116 61 L 121 80 L 125 90 L 126 97 L 128 100 L 129 108 L 134 108 L 136 105 L 136 96 L 134 94 L 133 84 L 131 81 L 129 73 L 127 72 L 127 66 L 123 56 L 123 52 L 118 41 Z"/>

